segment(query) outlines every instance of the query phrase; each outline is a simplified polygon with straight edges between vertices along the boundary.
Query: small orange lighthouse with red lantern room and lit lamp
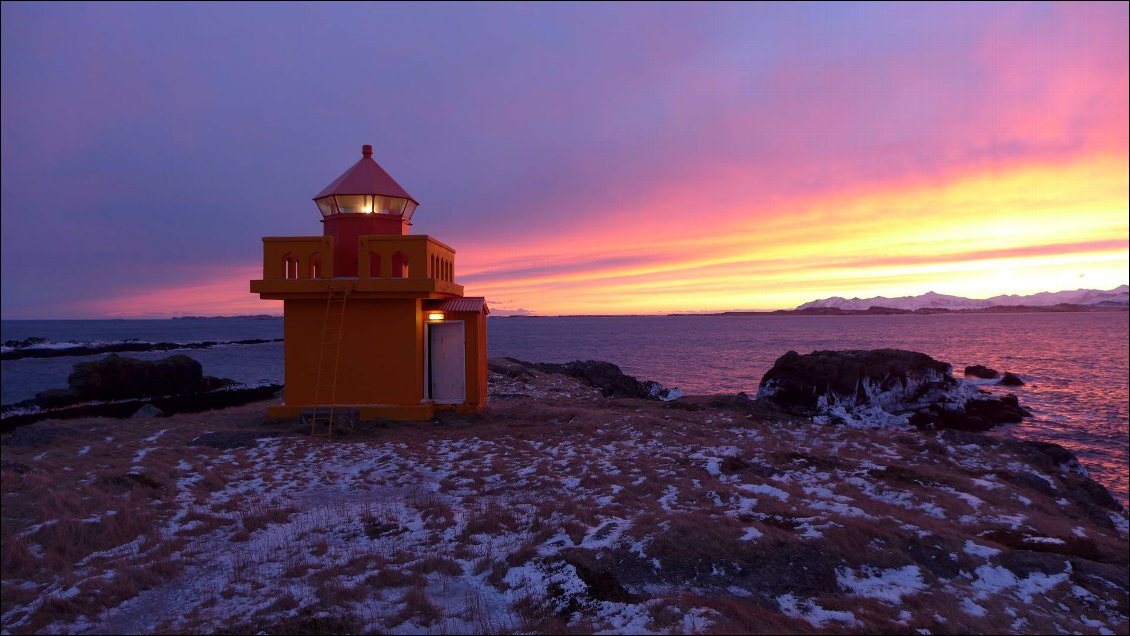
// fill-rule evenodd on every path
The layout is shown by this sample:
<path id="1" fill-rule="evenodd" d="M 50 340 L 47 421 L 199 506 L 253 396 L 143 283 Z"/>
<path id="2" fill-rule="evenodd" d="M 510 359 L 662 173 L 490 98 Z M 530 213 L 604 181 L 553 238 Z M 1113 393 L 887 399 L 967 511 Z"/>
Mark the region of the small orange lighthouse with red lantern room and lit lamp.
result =
<path id="1" fill-rule="evenodd" d="M 285 399 L 273 417 L 429 419 L 487 401 L 487 305 L 455 284 L 455 251 L 409 234 L 415 198 L 362 158 L 314 197 L 322 236 L 263 237 L 251 291 L 282 300 Z"/>

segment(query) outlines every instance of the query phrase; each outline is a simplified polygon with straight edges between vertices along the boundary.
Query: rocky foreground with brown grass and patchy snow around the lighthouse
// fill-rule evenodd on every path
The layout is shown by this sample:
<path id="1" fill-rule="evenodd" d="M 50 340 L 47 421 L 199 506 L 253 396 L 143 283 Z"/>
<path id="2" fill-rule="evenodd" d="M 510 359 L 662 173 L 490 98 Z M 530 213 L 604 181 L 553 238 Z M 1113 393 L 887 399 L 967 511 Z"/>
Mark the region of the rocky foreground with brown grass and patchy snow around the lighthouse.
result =
<path id="1" fill-rule="evenodd" d="M 262 403 L 5 435 L 3 631 L 1128 630 L 1125 511 L 1055 447 L 493 371 L 483 417 L 332 441 Z"/>

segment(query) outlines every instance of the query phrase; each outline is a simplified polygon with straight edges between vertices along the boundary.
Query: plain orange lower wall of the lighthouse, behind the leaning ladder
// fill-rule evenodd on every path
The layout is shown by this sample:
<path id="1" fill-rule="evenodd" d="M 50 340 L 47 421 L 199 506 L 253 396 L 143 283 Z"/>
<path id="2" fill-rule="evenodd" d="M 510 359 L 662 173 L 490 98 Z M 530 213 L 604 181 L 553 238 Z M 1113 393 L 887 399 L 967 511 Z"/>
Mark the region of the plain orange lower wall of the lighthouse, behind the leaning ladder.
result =
<path id="1" fill-rule="evenodd" d="M 313 404 L 325 300 L 284 300 L 282 312 L 286 404 Z M 424 398 L 419 300 L 347 300 L 339 365 L 333 395 L 338 404 L 419 404 Z"/>

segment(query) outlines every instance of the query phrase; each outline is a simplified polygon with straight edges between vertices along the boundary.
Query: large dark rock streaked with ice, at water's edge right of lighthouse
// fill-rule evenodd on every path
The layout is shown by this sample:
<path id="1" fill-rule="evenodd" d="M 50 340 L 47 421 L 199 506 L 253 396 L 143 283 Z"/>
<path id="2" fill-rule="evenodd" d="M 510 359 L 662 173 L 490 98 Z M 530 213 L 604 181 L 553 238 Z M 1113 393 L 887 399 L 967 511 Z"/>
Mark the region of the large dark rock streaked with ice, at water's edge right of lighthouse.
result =
<path id="1" fill-rule="evenodd" d="M 988 430 L 1031 413 L 1015 395 L 992 398 L 951 367 L 902 349 L 789 351 L 762 378 L 759 400 L 819 424 L 860 428 Z"/>

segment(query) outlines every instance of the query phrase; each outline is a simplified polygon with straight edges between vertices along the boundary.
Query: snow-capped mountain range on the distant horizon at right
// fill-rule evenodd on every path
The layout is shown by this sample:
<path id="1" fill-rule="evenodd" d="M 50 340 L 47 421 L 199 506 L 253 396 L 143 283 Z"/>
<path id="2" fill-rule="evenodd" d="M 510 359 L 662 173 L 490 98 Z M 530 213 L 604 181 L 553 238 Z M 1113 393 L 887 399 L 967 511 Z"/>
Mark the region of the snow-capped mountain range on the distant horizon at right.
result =
<path id="1" fill-rule="evenodd" d="M 1121 305 L 1130 304 L 1130 287 L 1122 285 L 1114 289 L 1075 289 L 1064 291 L 1041 291 L 1031 296 L 1017 296 L 1014 294 L 993 296 L 992 298 L 963 298 L 962 296 L 947 296 L 927 291 L 921 296 L 898 296 L 887 298 L 876 296 L 875 298 L 842 298 L 833 296 L 820 300 L 805 303 L 797 307 L 808 308 L 836 308 L 850 311 L 867 311 L 870 307 L 889 307 L 894 310 L 984 310 L 998 306 L 1032 306 L 1046 307 L 1059 304 L 1069 305 L 1096 305 L 1098 303 L 1116 303 Z"/>

